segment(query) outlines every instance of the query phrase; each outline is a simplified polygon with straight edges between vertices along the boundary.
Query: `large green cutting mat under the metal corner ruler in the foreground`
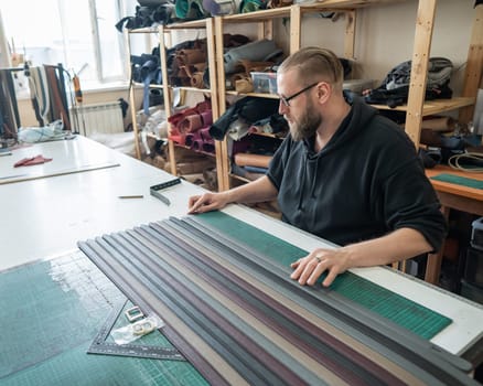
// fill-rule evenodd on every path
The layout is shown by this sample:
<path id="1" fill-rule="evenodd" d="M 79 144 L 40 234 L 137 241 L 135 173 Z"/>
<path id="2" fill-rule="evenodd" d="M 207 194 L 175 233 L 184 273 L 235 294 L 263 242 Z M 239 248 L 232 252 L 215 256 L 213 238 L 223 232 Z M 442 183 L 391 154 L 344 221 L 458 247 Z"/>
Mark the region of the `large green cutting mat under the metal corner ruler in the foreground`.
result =
<path id="1" fill-rule="evenodd" d="M 1 272 L 0 385 L 206 385 L 187 362 L 86 354 L 124 299 L 82 253 Z M 136 343 L 171 346 L 159 332 Z"/>

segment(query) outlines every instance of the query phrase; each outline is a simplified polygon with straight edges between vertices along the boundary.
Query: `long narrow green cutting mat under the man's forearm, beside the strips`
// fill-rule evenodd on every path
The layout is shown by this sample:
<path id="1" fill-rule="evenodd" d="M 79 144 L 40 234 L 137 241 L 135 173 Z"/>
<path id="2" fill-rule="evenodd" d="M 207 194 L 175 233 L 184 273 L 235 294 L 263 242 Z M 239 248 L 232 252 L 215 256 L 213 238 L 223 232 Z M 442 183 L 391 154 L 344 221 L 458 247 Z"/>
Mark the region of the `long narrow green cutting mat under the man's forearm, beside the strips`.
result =
<path id="1" fill-rule="evenodd" d="M 197 216 L 223 234 L 282 265 L 290 266 L 292 261 L 308 255 L 307 250 L 225 213 L 208 212 Z M 427 340 L 451 324 L 451 319 L 351 272 L 337 276 L 331 289 Z"/>

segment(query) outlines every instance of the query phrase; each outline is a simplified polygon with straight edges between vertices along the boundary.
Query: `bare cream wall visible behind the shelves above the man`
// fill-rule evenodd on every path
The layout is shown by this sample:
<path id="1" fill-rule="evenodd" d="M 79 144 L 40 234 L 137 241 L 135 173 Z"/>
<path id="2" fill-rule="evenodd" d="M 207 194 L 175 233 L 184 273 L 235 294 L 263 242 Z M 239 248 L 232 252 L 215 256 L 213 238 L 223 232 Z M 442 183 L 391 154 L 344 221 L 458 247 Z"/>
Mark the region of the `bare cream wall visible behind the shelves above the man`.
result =
<path id="1" fill-rule="evenodd" d="M 439 0 L 431 56 L 444 56 L 453 62 L 451 88 L 461 92 L 469 42 L 474 19 L 474 0 Z M 380 82 L 398 63 L 412 58 L 418 1 L 382 4 L 357 11 L 355 33 L 356 77 Z M 333 22 L 309 17 L 302 29 L 302 45 L 319 45 L 344 53 L 345 20 Z M 287 39 L 287 28 L 279 26 L 277 36 Z"/>

